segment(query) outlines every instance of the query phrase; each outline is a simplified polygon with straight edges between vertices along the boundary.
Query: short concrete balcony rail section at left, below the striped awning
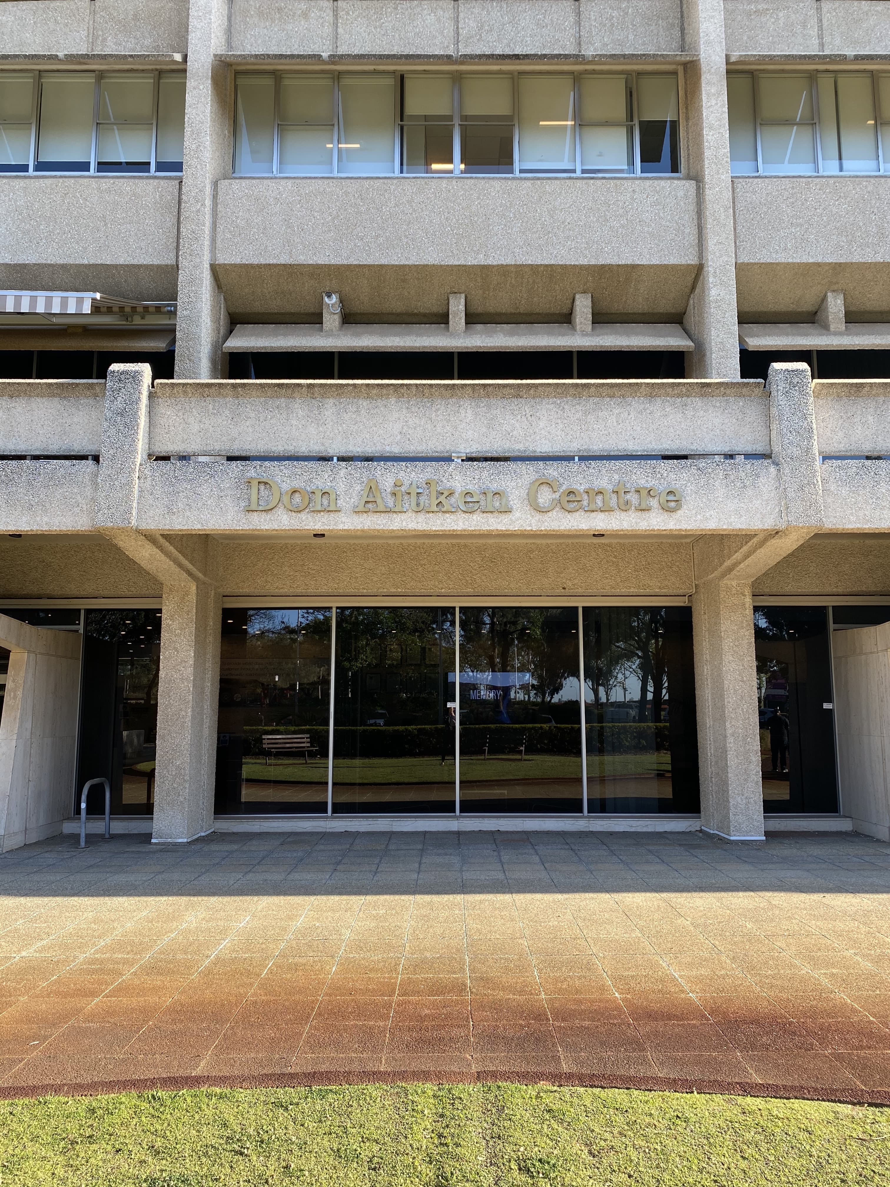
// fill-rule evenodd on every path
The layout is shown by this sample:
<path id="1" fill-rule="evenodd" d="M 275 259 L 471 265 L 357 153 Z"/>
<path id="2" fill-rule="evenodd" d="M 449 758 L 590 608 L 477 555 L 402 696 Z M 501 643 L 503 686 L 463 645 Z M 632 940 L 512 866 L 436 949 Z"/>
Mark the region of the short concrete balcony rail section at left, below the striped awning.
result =
<path id="1" fill-rule="evenodd" d="M 104 383 L 0 380 L 0 453 L 98 453 Z"/>

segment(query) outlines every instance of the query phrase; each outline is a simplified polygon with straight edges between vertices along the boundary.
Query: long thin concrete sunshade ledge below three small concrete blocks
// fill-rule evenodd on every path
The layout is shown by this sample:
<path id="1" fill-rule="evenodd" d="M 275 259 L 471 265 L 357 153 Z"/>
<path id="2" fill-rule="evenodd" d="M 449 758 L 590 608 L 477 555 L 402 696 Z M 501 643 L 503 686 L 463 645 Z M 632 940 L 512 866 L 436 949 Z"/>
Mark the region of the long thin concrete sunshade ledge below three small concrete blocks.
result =
<path id="1" fill-rule="evenodd" d="M 344 325 L 324 334 L 320 325 L 237 325 L 223 350 L 693 350 L 680 325 Z"/>

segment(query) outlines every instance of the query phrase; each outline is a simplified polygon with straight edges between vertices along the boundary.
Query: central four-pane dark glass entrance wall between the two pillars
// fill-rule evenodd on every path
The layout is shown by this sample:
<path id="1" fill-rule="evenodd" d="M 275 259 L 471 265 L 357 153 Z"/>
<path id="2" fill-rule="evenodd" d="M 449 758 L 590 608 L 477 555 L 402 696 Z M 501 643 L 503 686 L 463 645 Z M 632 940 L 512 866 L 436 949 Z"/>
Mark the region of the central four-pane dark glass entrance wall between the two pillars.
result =
<path id="1" fill-rule="evenodd" d="M 220 814 L 699 808 L 686 607 L 222 617 Z"/>

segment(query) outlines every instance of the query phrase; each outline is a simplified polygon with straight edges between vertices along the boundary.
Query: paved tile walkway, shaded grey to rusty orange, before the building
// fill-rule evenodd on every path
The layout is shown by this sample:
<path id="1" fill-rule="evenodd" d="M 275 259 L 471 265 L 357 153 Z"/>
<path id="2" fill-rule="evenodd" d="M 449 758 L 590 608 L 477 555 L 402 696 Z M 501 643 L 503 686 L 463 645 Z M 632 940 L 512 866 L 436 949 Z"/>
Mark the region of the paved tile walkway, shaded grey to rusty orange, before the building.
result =
<path id="1" fill-rule="evenodd" d="M 55 838 L 0 857 L 0 1094 L 503 1077 L 890 1102 L 889 893 L 890 846 L 858 836 Z"/>

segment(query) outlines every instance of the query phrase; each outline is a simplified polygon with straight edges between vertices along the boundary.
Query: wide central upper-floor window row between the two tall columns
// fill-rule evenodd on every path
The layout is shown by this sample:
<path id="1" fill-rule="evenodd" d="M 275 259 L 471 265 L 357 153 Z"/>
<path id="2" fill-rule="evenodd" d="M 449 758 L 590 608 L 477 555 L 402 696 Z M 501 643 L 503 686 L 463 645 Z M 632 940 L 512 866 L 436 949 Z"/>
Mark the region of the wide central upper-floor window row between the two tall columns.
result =
<path id="1" fill-rule="evenodd" d="M 673 74 L 242 74 L 236 176 L 679 173 Z"/>

